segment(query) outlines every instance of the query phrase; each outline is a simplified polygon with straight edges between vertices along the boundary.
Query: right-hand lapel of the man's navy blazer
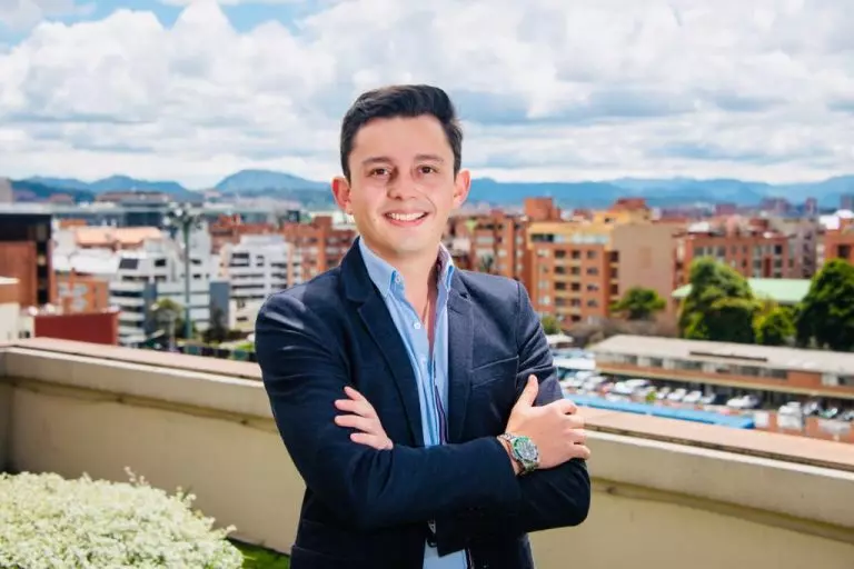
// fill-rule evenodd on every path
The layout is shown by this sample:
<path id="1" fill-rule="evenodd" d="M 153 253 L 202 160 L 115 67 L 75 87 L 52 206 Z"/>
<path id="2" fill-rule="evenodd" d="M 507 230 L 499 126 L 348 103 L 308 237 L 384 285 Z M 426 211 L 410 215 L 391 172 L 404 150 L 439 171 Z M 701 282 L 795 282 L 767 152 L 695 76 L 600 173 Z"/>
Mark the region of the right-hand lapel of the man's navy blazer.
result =
<path id="1" fill-rule="evenodd" d="M 448 297 L 448 438 L 459 442 L 466 421 L 468 395 L 471 389 L 471 350 L 474 318 L 468 293 L 458 290 L 459 276 L 453 279 Z"/>

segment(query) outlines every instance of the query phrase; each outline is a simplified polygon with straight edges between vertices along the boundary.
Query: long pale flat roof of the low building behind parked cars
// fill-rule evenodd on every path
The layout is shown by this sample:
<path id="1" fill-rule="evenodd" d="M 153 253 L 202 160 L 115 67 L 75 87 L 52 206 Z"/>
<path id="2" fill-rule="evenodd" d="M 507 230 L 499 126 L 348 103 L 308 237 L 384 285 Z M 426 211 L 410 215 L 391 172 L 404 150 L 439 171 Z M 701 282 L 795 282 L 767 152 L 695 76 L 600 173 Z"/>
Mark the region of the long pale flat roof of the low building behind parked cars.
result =
<path id="1" fill-rule="evenodd" d="M 741 360 L 761 368 L 854 375 L 854 353 L 851 352 L 628 335 L 613 336 L 588 349 L 594 353 L 714 362 Z"/>

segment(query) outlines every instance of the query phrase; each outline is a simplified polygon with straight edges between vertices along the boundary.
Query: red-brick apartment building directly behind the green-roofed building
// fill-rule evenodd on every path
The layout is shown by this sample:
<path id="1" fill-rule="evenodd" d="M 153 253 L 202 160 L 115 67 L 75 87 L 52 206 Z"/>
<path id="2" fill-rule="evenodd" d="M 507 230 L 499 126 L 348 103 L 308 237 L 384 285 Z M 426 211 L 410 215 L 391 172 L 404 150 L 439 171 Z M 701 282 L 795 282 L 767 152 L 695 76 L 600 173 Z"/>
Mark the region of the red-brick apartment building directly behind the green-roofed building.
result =
<path id="1" fill-rule="evenodd" d="M 790 238 L 767 219 L 731 217 L 691 223 L 676 236 L 674 289 L 687 284 L 694 259 L 711 257 L 745 278 L 801 278 Z"/>

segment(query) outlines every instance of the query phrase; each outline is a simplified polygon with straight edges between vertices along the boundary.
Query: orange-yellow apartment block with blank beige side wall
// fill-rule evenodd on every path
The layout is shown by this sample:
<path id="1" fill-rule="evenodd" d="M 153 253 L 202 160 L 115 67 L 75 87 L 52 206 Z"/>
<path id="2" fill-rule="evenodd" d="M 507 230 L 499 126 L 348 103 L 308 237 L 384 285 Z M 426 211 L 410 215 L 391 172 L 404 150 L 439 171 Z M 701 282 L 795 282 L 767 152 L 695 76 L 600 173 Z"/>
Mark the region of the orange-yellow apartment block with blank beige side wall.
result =
<path id="1" fill-rule="evenodd" d="M 535 310 L 558 320 L 590 322 L 630 287 L 672 291 L 673 228 L 651 221 L 643 201 L 574 221 L 534 221 L 528 227 L 529 274 Z"/>

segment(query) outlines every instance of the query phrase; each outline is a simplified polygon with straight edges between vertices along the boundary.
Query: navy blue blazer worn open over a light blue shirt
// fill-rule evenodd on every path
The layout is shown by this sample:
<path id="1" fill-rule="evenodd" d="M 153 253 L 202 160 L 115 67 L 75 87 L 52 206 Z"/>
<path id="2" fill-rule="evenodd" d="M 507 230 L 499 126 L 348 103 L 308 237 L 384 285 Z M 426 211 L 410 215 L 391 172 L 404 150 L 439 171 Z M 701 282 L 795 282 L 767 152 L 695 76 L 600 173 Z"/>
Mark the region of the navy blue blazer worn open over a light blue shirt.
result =
<path id="1" fill-rule="evenodd" d="M 586 518 L 584 461 L 516 477 L 495 438 L 528 375 L 539 378 L 537 405 L 563 397 L 525 288 L 455 271 L 448 335 L 449 443 L 424 447 L 406 348 L 357 246 L 265 302 L 256 355 L 306 482 L 292 569 L 420 569 L 428 520 L 440 553 L 467 548 L 478 568 L 532 568 L 528 532 Z M 334 422 L 348 385 L 371 402 L 393 450 L 352 442 Z"/>

